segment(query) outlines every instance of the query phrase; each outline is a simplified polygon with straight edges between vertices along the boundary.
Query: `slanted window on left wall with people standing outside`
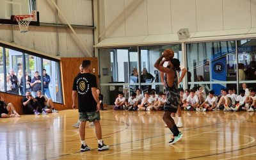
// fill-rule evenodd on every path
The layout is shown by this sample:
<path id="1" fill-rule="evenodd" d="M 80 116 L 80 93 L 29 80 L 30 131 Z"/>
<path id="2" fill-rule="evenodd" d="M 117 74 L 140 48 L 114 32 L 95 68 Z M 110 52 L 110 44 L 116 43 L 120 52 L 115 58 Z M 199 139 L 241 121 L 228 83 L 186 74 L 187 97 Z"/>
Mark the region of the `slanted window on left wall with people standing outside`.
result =
<path id="1" fill-rule="evenodd" d="M 36 97 L 41 90 L 53 102 L 62 103 L 60 63 L 49 59 L 0 47 L 0 92 L 23 96 L 29 91 Z"/>

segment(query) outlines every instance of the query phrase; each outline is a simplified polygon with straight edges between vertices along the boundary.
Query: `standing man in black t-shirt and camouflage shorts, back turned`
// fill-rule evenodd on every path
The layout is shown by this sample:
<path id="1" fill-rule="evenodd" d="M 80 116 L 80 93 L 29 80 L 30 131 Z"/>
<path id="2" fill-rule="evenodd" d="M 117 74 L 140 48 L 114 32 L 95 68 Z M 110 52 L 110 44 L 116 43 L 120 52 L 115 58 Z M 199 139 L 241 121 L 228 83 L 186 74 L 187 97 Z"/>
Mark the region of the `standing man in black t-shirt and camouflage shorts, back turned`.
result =
<path id="1" fill-rule="evenodd" d="M 84 60 L 82 63 L 83 73 L 77 75 L 74 79 L 72 90 L 72 108 L 76 108 L 76 95 L 78 94 L 78 111 L 79 111 L 79 133 L 81 138 L 81 152 L 90 150 L 86 145 L 85 138 L 85 125 L 86 121 L 93 122 L 95 125 L 95 132 L 98 139 L 98 150 L 107 150 L 108 145 L 102 141 L 101 127 L 100 127 L 100 101 L 97 95 L 96 77 L 90 74 L 92 67 L 90 60 Z"/>

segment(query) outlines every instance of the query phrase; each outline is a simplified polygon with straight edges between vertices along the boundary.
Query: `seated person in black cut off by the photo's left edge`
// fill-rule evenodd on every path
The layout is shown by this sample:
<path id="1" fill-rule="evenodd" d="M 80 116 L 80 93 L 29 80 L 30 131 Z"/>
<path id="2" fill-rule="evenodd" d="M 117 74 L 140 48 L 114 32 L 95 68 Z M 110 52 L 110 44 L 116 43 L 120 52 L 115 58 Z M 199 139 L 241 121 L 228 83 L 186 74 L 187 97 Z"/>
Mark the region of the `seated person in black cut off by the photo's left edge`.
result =
<path id="1" fill-rule="evenodd" d="M 6 103 L 4 98 L 0 96 L 0 118 L 20 117 L 19 113 L 15 111 L 12 103 Z"/>

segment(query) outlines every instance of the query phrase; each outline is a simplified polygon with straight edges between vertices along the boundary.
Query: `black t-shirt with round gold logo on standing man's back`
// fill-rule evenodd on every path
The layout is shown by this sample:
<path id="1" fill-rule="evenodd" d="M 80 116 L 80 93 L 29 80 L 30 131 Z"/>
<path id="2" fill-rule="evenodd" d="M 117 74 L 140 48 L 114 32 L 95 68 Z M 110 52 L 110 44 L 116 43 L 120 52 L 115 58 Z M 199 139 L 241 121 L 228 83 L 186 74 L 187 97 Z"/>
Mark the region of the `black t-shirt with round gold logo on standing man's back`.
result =
<path id="1" fill-rule="evenodd" d="M 93 98 L 92 88 L 97 88 L 96 77 L 90 73 L 79 74 L 74 79 L 73 90 L 78 95 L 78 111 L 97 111 L 97 102 Z"/>

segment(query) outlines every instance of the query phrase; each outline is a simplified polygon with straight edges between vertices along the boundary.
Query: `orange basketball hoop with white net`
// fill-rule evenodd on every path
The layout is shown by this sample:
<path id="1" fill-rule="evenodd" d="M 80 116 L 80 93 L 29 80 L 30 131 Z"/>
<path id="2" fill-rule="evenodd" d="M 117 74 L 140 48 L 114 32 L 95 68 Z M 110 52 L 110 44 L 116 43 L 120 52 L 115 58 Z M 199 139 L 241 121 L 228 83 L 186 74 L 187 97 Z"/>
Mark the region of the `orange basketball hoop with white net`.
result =
<path id="1" fill-rule="evenodd" d="M 31 20 L 36 20 L 36 11 L 32 12 L 32 15 L 14 15 L 14 20 L 17 20 L 20 28 L 20 33 L 26 33 Z"/>

